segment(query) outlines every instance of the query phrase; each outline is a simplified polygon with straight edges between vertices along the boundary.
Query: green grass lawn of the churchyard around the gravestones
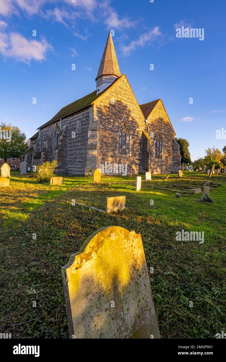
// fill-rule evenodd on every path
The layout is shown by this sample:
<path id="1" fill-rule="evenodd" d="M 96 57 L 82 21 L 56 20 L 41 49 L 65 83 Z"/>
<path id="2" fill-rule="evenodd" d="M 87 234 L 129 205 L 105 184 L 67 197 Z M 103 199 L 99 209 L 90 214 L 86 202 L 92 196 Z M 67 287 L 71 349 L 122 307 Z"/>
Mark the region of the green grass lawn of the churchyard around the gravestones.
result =
<path id="1" fill-rule="evenodd" d="M 135 176 L 131 181 L 102 177 L 100 185 L 91 177 L 65 177 L 63 185 L 50 186 L 12 173 L 10 186 L 0 188 L 0 332 L 12 338 L 68 338 L 61 266 L 91 233 L 116 225 L 141 234 L 148 270 L 154 270 L 149 277 L 161 337 L 221 333 L 226 326 L 226 175 L 211 178 L 214 204 L 198 202 L 202 194 L 175 197 L 177 190 L 201 187 L 206 179 L 188 171 L 182 178 L 152 176 L 149 182 L 142 176 L 136 192 Z M 172 184 L 180 187 L 168 188 Z M 75 199 L 104 210 L 105 198 L 116 195 L 126 195 L 126 210 L 105 214 L 71 205 Z M 176 241 L 182 229 L 203 231 L 204 243 Z"/>

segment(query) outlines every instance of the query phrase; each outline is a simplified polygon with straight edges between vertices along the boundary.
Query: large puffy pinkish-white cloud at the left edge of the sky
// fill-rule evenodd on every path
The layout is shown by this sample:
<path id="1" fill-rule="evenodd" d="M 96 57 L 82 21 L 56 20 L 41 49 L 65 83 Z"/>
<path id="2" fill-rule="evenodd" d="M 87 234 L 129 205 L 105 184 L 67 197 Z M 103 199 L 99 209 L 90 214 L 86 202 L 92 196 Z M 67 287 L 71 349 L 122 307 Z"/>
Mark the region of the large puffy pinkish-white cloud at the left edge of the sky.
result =
<path id="1" fill-rule="evenodd" d="M 28 40 L 19 33 L 0 32 L 0 52 L 7 58 L 15 58 L 29 64 L 31 60 L 45 60 L 46 52 L 52 49 L 45 38 L 41 41 Z"/>

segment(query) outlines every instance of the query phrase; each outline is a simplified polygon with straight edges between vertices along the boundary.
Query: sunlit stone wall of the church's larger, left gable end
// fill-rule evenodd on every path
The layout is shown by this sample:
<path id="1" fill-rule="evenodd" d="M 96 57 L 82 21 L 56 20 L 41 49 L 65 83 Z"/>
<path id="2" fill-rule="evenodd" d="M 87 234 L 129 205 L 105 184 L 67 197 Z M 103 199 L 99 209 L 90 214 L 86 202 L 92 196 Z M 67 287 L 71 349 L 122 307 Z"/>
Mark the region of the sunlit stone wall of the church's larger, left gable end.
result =
<path id="1" fill-rule="evenodd" d="M 142 173 L 143 114 L 124 75 L 94 102 L 94 118 L 99 122 L 97 164 L 127 164 L 127 172 Z M 131 130 L 130 155 L 118 154 L 118 131 L 122 123 Z"/>

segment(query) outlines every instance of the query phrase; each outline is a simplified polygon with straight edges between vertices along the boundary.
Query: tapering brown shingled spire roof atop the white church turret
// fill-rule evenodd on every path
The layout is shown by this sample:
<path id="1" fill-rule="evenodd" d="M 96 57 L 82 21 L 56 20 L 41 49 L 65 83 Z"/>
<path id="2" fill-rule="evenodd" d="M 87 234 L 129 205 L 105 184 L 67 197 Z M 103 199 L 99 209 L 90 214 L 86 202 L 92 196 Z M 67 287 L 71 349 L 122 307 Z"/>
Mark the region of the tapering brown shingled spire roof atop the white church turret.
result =
<path id="1" fill-rule="evenodd" d="M 121 75 L 110 31 L 96 79 L 102 75 L 116 75 L 117 77 Z"/>

